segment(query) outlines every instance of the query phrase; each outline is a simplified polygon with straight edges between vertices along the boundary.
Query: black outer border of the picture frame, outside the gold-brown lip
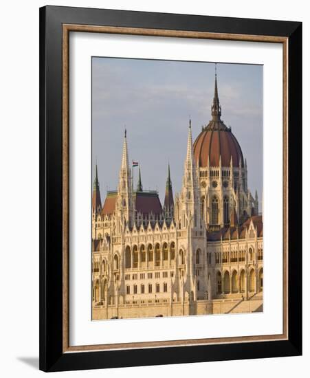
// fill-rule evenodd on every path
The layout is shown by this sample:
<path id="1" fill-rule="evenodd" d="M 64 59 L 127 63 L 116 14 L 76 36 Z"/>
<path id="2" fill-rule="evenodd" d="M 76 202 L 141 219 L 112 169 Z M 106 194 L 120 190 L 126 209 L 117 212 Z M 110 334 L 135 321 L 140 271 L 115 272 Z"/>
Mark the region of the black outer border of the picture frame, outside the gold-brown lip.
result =
<path id="1" fill-rule="evenodd" d="M 288 40 L 288 340 L 63 353 L 63 24 Z M 40 369 L 113 368 L 302 354 L 302 23 L 46 6 L 40 9 Z"/>

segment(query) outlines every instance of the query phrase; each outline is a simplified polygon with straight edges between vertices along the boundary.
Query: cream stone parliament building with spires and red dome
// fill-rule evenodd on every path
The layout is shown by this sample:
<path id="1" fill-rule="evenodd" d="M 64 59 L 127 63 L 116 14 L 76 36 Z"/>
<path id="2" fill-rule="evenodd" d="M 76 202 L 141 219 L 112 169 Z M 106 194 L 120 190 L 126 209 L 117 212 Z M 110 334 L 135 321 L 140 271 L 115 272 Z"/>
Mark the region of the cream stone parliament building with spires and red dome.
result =
<path id="1" fill-rule="evenodd" d="M 92 194 L 92 319 L 263 311 L 263 217 L 247 187 L 247 161 L 221 120 L 215 76 L 212 119 L 192 143 L 181 191 L 170 166 L 162 205 L 133 188 L 126 131 L 118 189 Z M 185 142 L 185 141 L 184 141 Z"/>

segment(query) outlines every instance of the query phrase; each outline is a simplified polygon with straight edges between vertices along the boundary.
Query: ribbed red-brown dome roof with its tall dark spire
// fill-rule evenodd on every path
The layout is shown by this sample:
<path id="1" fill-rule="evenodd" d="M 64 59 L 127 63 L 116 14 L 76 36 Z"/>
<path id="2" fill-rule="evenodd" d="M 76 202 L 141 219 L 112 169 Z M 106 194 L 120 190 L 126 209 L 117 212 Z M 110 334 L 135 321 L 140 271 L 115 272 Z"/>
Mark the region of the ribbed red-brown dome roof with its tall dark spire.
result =
<path id="1" fill-rule="evenodd" d="M 222 166 L 230 166 L 230 159 L 232 159 L 234 167 L 239 167 L 240 160 L 243 167 L 241 147 L 231 129 L 225 126 L 221 120 L 217 76 L 215 76 L 214 98 L 211 109 L 212 120 L 210 120 L 208 126 L 203 127 L 194 142 L 195 162 L 198 162 L 201 167 L 206 167 L 209 159 L 210 166 L 219 166 L 219 157 L 221 156 Z"/>

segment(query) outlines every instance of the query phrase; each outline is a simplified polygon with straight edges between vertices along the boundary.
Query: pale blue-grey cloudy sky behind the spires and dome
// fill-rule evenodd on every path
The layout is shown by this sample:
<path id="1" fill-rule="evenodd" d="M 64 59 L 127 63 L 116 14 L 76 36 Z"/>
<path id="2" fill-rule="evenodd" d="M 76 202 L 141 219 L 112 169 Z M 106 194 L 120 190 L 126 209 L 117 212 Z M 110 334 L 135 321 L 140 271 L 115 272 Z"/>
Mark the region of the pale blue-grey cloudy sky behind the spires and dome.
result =
<path id="1" fill-rule="evenodd" d="M 222 120 L 232 127 L 247 159 L 248 186 L 263 190 L 263 67 L 217 64 Z M 170 162 L 173 193 L 181 189 L 188 120 L 193 141 L 211 119 L 214 63 L 92 58 L 92 154 L 102 202 L 116 189 L 124 125 L 130 162 L 141 164 L 145 190 L 163 203 Z M 133 168 L 135 186 L 138 168 Z"/>

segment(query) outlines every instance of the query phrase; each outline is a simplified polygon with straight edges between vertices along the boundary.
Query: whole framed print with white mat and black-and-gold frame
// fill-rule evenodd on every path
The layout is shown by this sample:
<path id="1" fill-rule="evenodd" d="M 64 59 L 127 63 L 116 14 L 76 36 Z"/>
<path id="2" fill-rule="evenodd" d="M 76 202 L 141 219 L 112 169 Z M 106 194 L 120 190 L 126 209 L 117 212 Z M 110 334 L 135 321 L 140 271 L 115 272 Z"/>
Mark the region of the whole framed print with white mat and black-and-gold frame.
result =
<path id="1" fill-rule="evenodd" d="M 302 25 L 40 10 L 40 368 L 302 353 Z"/>

